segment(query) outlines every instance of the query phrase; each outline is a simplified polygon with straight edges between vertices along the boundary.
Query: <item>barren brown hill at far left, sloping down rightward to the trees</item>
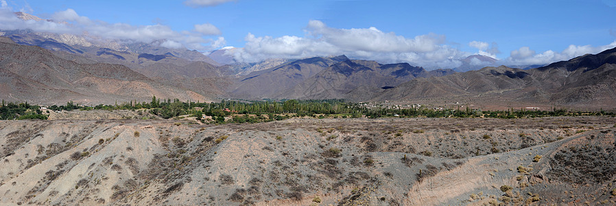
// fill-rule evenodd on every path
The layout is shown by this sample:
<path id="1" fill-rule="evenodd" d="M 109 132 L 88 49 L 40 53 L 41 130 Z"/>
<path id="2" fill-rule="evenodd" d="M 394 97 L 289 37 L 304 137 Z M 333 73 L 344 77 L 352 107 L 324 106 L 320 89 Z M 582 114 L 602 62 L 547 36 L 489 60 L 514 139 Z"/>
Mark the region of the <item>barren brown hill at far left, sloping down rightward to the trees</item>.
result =
<path id="1" fill-rule="evenodd" d="M 114 104 L 160 98 L 208 101 L 193 91 L 165 86 L 121 65 L 81 64 L 35 46 L 0 43 L 1 98 L 45 104 Z"/>

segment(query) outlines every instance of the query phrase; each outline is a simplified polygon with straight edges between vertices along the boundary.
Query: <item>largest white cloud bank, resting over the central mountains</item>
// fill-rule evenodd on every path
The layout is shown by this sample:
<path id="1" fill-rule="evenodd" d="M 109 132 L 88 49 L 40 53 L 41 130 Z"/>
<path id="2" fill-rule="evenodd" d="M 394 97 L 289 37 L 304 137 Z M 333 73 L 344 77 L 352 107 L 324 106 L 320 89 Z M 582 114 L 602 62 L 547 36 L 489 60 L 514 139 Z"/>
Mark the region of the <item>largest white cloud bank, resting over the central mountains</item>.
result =
<path id="1" fill-rule="evenodd" d="M 453 68 L 458 58 L 468 56 L 445 45 L 445 36 L 425 34 L 406 38 L 376 27 L 339 29 L 321 21 L 309 21 L 307 36 L 246 35 L 242 49 L 228 51 L 238 62 L 257 62 L 268 58 L 307 58 L 346 54 L 351 58 L 379 62 L 410 62 L 428 68 Z"/>

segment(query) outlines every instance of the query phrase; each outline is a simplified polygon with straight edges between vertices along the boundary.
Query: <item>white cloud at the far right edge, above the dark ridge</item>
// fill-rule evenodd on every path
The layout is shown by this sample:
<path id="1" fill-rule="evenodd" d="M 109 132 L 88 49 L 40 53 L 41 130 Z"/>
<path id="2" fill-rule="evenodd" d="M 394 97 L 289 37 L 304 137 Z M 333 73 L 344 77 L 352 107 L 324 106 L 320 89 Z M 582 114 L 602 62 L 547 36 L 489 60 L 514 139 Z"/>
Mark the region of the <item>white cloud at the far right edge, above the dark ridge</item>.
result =
<path id="1" fill-rule="evenodd" d="M 569 47 L 562 50 L 562 52 L 547 50 L 540 54 L 537 54 L 529 47 L 521 47 L 511 52 L 511 55 L 507 58 L 506 63 L 510 65 L 545 65 L 552 62 L 569 60 L 584 54 L 597 54 L 614 47 L 616 47 L 616 41 L 608 45 L 598 47 L 593 47 L 591 45 L 569 45 Z"/>

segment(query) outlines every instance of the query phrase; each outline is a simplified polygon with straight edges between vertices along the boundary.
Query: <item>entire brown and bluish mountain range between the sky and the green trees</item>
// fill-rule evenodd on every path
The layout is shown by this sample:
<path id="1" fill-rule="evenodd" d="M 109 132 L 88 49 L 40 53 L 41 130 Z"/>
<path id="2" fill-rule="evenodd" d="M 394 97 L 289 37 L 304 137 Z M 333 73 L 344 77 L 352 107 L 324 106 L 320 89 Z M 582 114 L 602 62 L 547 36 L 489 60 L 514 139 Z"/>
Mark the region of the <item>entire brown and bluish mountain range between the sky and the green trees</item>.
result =
<path id="1" fill-rule="evenodd" d="M 16 13 L 22 19 L 40 19 Z M 38 18 L 38 19 L 37 19 Z M 0 96 L 8 101 L 112 104 L 152 95 L 180 100 L 216 98 L 346 99 L 451 102 L 484 108 L 569 106 L 615 108 L 616 49 L 550 65 L 497 66 L 473 55 L 454 69 L 427 71 L 408 63 L 381 64 L 344 55 L 237 63 L 225 48 L 209 56 L 154 43 L 118 43 L 74 34 L 3 31 Z M 490 65 L 473 70 L 479 65 Z"/>

